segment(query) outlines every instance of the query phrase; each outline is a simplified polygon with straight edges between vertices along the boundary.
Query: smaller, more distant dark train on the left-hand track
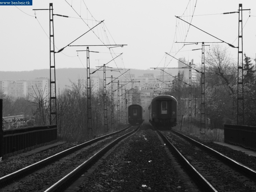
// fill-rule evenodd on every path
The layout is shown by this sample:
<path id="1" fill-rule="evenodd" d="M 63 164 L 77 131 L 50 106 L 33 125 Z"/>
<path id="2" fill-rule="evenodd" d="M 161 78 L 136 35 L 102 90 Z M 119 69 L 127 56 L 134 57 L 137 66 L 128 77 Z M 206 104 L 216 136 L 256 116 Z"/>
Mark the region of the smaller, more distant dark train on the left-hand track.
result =
<path id="1" fill-rule="evenodd" d="M 141 124 L 143 119 L 143 108 L 133 104 L 128 107 L 128 123 L 131 125 Z"/>

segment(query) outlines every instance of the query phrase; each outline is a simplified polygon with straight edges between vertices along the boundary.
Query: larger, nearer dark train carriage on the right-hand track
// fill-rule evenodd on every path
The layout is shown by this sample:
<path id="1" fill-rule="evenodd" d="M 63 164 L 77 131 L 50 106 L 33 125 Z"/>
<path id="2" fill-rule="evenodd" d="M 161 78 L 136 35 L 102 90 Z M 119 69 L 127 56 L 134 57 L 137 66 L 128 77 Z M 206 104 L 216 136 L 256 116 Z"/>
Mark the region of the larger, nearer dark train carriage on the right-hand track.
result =
<path id="1" fill-rule="evenodd" d="M 157 127 L 172 128 L 177 125 L 177 100 L 170 95 L 159 95 L 152 99 L 149 122 Z"/>

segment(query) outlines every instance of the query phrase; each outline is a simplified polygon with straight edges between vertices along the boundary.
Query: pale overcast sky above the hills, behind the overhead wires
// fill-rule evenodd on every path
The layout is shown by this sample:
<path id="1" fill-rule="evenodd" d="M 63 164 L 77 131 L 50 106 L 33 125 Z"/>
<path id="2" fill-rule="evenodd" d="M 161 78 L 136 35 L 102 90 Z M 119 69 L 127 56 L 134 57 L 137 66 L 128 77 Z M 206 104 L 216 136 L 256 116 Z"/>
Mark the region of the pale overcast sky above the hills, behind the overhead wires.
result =
<path id="1" fill-rule="evenodd" d="M 100 52 L 90 52 L 91 68 L 107 63 L 120 53 L 123 54 L 115 62 L 110 62 L 109 67 L 176 67 L 177 60 L 170 60 L 171 57 L 165 52 L 177 59 L 184 57 L 200 63 L 201 50 L 191 50 L 200 49 L 201 43 L 182 47 L 184 44 L 174 42 L 222 40 L 237 46 L 238 13 L 221 13 L 237 12 L 239 3 L 243 3 L 243 9 L 251 9 L 251 13 L 243 11 L 243 51 L 255 58 L 255 0 L 33 0 L 32 6 L 0 6 L 1 71 L 49 68 L 49 11 L 32 10 L 49 9 L 49 3 L 53 3 L 54 14 L 69 16 L 54 16 L 55 51 L 67 46 L 102 20 L 104 24 L 94 28 L 94 33 L 89 31 L 70 45 L 127 44 L 110 49 L 90 46 L 90 51 Z M 84 20 L 79 19 L 80 16 Z M 192 20 L 192 25 L 220 40 L 189 27 L 175 16 L 182 16 L 180 18 L 188 22 Z M 221 45 L 228 48 L 233 58 L 237 58 L 237 48 L 225 43 Z M 86 47 L 68 46 L 56 53 L 56 68 L 86 67 L 86 52 L 78 52 L 77 56 L 77 50 L 86 50 Z"/>

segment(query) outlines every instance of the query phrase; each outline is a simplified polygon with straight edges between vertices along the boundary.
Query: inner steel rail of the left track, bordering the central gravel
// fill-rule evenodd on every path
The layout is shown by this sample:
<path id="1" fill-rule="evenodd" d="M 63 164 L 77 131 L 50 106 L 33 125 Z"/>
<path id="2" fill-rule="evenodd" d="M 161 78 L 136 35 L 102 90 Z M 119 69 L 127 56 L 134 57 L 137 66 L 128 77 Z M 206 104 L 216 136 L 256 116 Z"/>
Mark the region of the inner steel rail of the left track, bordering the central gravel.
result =
<path id="1" fill-rule="evenodd" d="M 64 191 L 69 185 L 72 185 L 73 181 L 76 180 L 75 178 L 78 179 L 81 176 L 81 174 L 86 171 L 87 168 L 91 167 L 94 163 L 96 163 L 109 149 L 114 147 L 119 141 L 128 137 L 132 133 L 137 132 L 140 128 L 140 125 L 138 125 L 138 127 L 132 132 L 126 133 L 125 135 L 117 138 L 116 140 L 102 148 L 100 151 L 95 153 L 88 160 L 86 160 L 84 163 L 76 167 L 76 169 L 74 169 L 72 172 L 70 172 L 68 175 L 63 177 L 55 184 L 53 184 L 50 188 L 46 189 L 44 192 Z"/>

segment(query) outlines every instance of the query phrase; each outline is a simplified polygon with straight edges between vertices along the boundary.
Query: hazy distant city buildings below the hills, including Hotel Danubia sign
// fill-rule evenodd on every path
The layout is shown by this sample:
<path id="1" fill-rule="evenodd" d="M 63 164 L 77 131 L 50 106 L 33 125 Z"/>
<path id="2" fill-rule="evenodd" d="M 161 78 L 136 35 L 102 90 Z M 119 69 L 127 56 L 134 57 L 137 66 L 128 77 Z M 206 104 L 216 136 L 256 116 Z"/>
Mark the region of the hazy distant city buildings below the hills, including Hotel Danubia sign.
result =
<path id="1" fill-rule="evenodd" d="M 122 87 L 123 90 L 136 89 L 141 92 L 141 98 L 152 97 L 155 91 L 164 91 L 173 87 L 172 83 L 177 80 L 178 71 L 183 72 L 183 79 L 188 80 L 189 77 L 189 62 L 185 58 L 180 58 L 178 61 L 178 68 L 166 69 L 161 75 L 154 76 L 154 73 L 144 73 L 137 77 L 135 74 L 124 74 L 119 78 L 113 78 L 113 88 L 116 90 Z M 192 67 L 194 67 L 193 60 L 191 60 Z M 192 82 L 196 81 L 196 71 L 192 68 L 191 70 Z M 175 78 L 175 77 L 176 78 Z M 131 81 L 131 82 L 130 82 Z M 78 79 L 76 80 L 78 82 Z M 87 79 L 80 79 L 80 83 L 86 86 Z M 107 83 L 110 82 L 110 78 L 107 79 Z M 110 86 L 110 84 L 109 84 Z M 92 91 L 98 91 L 100 87 L 103 87 L 103 78 L 98 76 L 91 76 L 91 87 Z M 18 79 L 18 80 L 2 80 L 0 81 L 0 90 L 4 94 L 13 97 L 23 97 L 26 99 L 33 99 L 38 91 L 43 98 L 49 96 L 50 88 L 54 92 L 54 87 L 50 86 L 50 79 L 47 77 L 36 77 L 34 79 Z M 59 94 L 59 82 L 56 80 L 56 95 Z M 60 90 L 61 92 L 62 90 Z"/>

